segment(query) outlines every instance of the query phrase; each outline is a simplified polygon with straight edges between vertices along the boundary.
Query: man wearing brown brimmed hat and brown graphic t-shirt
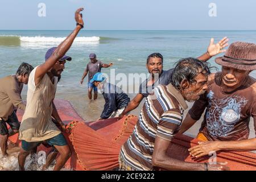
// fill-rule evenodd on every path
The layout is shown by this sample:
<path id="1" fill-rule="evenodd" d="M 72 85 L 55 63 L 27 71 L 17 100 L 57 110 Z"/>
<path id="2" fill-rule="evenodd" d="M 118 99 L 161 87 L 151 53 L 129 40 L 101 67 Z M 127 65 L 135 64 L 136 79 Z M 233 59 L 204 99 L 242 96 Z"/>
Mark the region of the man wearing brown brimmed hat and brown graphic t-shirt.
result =
<path id="1" fill-rule="evenodd" d="M 256 138 L 248 139 L 250 117 L 256 130 L 256 80 L 249 76 L 256 69 L 256 45 L 233 43 L 215 61 L 221 72 L 209 77 L 208 91 L 193 104 L 180 130 L 187 131 L 207 108 L 197 135 L 204 142 L 189 148 L 196 158 L 210 151 L 256 150 Z"/>

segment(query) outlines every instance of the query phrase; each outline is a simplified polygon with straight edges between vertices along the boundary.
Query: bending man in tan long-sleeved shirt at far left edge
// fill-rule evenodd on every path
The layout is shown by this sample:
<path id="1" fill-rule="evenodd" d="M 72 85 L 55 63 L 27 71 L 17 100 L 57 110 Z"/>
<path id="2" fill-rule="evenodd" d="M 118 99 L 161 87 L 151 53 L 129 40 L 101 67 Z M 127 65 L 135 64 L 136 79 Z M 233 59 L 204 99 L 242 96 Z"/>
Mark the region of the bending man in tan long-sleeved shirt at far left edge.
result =
<path id="1" fill-rule="evenodd" d="M 7 156 L 7 139 L 18 133 L 19 121 L 16 108 L 25 110 L 20 93 L 23 84 L 27 84 L 30 72 L 34 69 L 30 64 L 20 64 L 16 75 L 0 79 L 0 147 L 3 156 Z M 6 123 L 10 126 L 8 130 Z"/>

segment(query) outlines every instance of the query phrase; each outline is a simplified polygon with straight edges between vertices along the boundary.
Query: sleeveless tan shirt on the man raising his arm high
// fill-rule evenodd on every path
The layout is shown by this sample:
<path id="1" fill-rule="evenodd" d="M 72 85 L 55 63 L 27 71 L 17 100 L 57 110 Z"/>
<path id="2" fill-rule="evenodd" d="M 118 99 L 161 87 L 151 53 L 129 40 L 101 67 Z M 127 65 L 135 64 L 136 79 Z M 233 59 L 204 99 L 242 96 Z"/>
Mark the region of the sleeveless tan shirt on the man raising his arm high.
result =
<path id="1" fill-rule="evenodd" d="M 55 137 L 61 131 L 52 122 L 52 101 L 55 97 L 57 77 L 54 84 L 46 74 L 35 85 L 34 68 L 28 79 L 27 107 L 19 129 L 19 139 L 26 142 L 39 142 Z"/>

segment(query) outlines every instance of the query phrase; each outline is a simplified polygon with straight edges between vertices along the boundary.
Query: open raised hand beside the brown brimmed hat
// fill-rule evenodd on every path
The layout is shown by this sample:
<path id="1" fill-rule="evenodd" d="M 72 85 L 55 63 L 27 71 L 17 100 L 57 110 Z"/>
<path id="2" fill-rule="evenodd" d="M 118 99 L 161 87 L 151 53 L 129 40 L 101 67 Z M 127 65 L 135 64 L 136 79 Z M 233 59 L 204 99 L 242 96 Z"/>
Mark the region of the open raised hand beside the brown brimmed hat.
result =
<path id="1" fill-rule="evenodd" d="M 223 38 L 217 44 L 214 44 L 214 39 L 210 39 L 210 44 L 207 48 L 209 56 L 216 56 L 219 53 L 226 52 L 226 49 L 223 49 L 228 46 L 229 39 L 227 37 Z"/>

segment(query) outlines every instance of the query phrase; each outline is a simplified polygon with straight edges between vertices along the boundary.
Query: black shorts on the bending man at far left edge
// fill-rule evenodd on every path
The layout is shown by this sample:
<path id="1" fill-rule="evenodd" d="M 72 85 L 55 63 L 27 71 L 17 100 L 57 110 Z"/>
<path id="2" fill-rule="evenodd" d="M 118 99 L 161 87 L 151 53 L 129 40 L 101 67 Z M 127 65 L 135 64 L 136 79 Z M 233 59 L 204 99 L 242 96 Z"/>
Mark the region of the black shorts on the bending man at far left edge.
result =
<path id="1" fill-rule="evenodd" d="M 9 133 L 6 123 L 8 123 L 12 130 L 19 130 L 20 123 L 15 111 L 11 113 L 7 121 L 0 118 L 0 135 L 7 135 Z"/>

